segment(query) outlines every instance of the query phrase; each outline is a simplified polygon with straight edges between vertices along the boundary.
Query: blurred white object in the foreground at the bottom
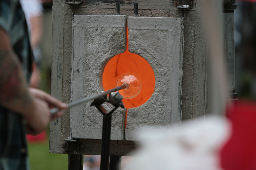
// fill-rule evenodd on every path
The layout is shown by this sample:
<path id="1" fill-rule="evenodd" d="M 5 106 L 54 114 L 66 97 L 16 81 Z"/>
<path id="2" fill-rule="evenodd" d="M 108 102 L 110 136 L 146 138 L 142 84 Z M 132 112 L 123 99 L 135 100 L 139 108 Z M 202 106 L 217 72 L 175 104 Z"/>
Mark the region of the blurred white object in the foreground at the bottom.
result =
<path id="1" fill-rule="evenodd" d="M 182 127 L 142 130 L 141 147 L 124 170 L 221 170 L 219 150 L 230 136 L 223 117 L 182 123 Z"/>

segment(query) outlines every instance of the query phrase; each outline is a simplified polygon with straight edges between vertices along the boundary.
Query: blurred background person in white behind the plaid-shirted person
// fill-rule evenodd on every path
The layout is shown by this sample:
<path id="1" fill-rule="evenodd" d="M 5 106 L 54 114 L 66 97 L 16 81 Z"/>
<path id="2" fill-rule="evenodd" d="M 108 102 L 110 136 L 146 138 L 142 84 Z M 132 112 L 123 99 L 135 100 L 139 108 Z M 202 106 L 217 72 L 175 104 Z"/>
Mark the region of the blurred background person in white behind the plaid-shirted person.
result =
<path id="1" fill-rule="evenodd" d="M 39 43 L 43 33 L 43 5 L 41 0 L 20 0 L 20 4 L 27 21 L 30 45 L 35 59 L 30 86 L 39 88 L 41 81 L 39 67 L 42 60 Z"/>

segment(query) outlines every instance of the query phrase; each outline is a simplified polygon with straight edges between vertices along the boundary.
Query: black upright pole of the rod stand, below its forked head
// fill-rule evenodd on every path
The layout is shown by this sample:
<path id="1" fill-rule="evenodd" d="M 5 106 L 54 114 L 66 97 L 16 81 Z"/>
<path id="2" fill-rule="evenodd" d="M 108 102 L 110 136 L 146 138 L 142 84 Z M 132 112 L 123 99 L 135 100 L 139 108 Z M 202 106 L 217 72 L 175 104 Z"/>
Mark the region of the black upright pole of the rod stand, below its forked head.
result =
<path id="1" fill-rule="evenodd" d="M 103 115 L 100 170 L 108 170 L 112 115 Z"/>

